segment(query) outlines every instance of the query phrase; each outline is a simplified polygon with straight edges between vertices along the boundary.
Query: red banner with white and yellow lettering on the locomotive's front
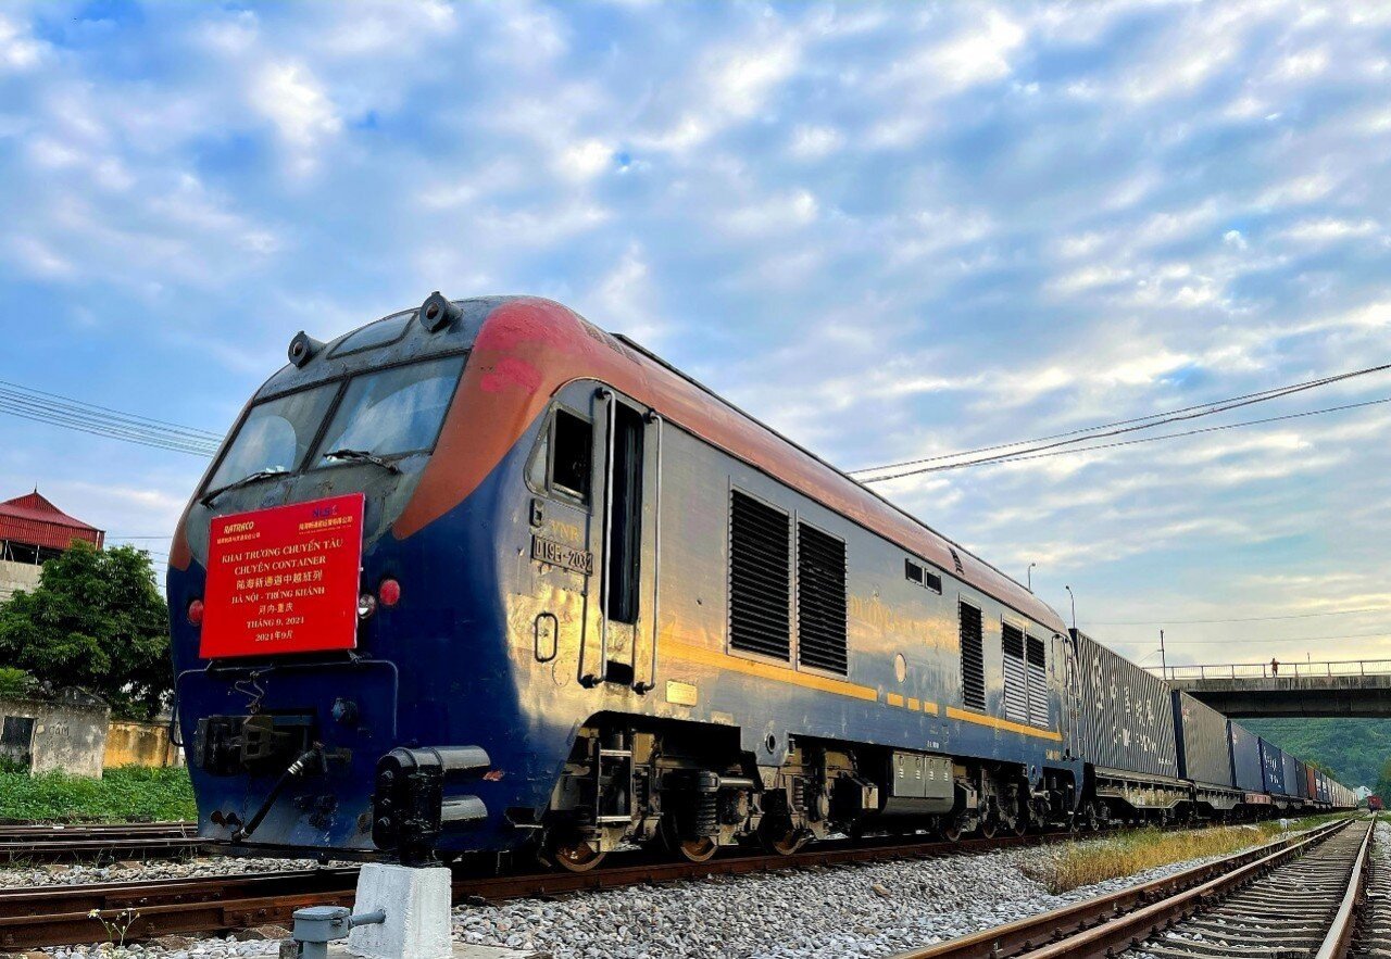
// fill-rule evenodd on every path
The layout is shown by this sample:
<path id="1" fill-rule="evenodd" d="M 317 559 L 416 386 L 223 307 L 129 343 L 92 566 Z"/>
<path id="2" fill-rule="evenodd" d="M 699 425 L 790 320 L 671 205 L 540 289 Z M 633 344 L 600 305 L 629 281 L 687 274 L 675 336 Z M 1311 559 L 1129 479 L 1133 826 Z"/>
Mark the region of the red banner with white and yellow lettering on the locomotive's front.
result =
<path id="1" fill-rule="evenodd" d="M 357 645 L 363 495 L 213 520 L 199 655 Z"/>

